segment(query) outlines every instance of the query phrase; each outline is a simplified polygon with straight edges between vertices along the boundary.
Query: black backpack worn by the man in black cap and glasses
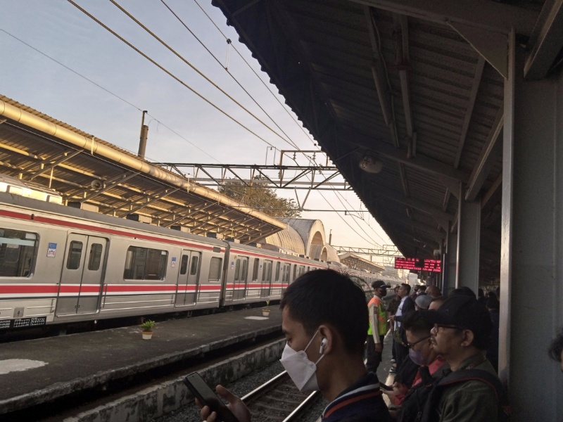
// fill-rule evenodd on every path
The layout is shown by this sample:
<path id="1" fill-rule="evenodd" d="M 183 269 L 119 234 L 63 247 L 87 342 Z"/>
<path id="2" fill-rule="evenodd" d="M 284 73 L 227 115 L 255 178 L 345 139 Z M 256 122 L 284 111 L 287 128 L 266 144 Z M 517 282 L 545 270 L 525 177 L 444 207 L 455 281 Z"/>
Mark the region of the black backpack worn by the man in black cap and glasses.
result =
<path id="1" fill-rule="evenodd" d="M 466 381 L 482 381 L 495 392 L 498 406 L 498 420 L 510 421 L 510 406 L 508 405 L 505 390 L 499 379 L 493 374 L 481 369 L 464 369 L 463 371 L 450 372 L 442 378 L 434 378 L 428 368 L 420 368 L 422 382 L 411 388 L 403 404 L 398 410 L 398 421 L 402 422 L 434 422 L 438 421 L 438 407 L 443 390 L 455 383 Z"/>

